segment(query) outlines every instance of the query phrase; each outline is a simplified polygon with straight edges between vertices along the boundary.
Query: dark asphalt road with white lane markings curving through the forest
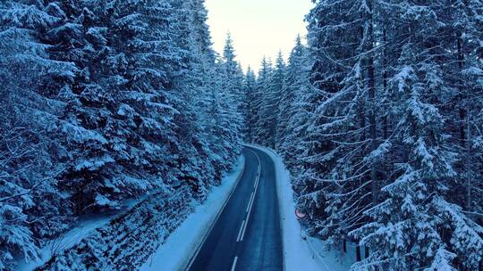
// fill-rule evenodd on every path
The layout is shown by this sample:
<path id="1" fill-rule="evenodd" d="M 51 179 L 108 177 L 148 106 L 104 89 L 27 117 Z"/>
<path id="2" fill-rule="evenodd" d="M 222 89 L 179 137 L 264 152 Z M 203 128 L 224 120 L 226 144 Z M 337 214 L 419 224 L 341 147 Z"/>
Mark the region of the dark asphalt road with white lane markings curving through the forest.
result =
<path id="1" fill-rule="evenodd" d="M 283 270 L 275 165 L 264 152 L 246 147 L 245 171 L 191 271 Z"/>

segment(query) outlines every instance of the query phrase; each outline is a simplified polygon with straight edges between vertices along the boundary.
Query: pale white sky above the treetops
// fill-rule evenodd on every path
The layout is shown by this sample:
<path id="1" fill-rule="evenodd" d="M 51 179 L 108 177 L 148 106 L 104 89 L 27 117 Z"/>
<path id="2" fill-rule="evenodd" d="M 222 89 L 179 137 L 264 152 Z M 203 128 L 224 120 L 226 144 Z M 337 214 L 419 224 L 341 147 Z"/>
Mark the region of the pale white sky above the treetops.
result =
<path id="1" fill-rule="evenodd" d="M 263 56 L 275 61 L 279 50 L 285 59 L 295 37 L 307 34 L 305 15 L 310 0 L 206 0 L 214 47 L 223 53 L 226 33 L 232 34 L 237 60 L 244 70 L 258 70 Z"/>

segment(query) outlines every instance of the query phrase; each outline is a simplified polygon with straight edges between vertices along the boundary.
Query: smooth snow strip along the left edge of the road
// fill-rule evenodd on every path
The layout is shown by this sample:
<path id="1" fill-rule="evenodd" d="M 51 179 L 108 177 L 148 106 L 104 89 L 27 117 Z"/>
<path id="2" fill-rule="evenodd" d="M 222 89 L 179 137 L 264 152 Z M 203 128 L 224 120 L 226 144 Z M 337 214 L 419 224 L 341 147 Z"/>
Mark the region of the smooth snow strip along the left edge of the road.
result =
<path id="1" fill-rule="evenodd" d="M 140 271 L 184 270 L 188 266 L 242 177 L 244 166 L 245 161 L 241 156 L 237 166 L 223 179 L 222 185 L 211 190 L 207 200 L 195 208 L 194 213 L 140 267 Z"/>

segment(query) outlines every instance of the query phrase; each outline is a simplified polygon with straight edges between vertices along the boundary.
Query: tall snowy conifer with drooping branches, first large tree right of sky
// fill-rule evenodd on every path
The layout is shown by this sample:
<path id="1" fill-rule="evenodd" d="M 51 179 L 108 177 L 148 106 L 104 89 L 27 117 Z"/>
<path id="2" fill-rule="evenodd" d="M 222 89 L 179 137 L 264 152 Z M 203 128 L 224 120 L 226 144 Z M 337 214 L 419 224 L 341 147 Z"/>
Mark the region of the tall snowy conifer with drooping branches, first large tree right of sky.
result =
<path id="1" fill-rule="evenodd" d="M 297 181 L 304 192 L 299 202 L 314 217 L 310 230 L 333 244 L 363 222 L 371 202 L 372 161 L 363 162 L 372 148 L 367 111 L 374 99 L 367 64 L 371 50 L 365 45 L 368 13 L 365 1 L 354 0 L 320 1 L 309 14 L 315 58 L 310 81 L 319 94 L 310 101 L 313 118 L 301 138 L 305 169 Z"/>

